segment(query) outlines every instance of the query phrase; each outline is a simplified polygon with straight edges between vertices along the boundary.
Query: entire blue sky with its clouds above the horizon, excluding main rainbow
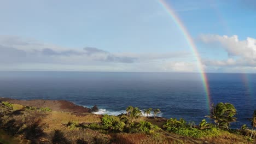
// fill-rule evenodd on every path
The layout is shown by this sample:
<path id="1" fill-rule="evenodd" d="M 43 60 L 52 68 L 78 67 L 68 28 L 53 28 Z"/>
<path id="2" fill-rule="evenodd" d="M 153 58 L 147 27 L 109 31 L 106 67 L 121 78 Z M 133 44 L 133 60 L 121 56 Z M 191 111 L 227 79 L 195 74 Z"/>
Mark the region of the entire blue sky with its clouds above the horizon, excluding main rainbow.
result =
<path id="1" fill-rule="evenodd" d="M 194 39 L 205 71 L 256 72 L 256 2 L 166 3 Z M 0 0 L 0 19 L 0 70 L 198 71 L 157 0 Z"/>

